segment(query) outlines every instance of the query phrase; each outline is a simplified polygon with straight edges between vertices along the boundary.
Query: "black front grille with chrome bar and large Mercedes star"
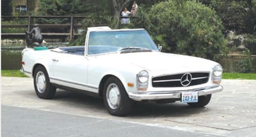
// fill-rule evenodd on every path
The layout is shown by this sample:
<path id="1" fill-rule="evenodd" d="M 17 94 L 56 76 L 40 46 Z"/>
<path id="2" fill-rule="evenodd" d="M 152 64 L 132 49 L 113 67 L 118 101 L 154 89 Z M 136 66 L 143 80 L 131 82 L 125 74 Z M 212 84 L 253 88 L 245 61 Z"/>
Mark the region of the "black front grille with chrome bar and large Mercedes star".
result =
<path id="1" fill-rule="evenodd" d="M 188 87 L 208 82 L 208 72 L 192 72 L 152 78 L 153 87 Z"/>

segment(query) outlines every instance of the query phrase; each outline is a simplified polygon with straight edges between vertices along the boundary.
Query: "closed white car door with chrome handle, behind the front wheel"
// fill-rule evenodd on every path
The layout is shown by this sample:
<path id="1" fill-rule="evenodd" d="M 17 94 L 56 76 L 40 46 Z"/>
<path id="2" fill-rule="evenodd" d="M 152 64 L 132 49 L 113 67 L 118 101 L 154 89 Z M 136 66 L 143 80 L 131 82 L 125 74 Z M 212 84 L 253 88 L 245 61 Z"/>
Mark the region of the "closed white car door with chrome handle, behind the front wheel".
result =
<path id="1" fill-rule="evenodd" d="M 59 53 L 52 58 L 52 81 L 65 87 L 89 90 L 87 65 L 88 60 L 83 55 Z"/>

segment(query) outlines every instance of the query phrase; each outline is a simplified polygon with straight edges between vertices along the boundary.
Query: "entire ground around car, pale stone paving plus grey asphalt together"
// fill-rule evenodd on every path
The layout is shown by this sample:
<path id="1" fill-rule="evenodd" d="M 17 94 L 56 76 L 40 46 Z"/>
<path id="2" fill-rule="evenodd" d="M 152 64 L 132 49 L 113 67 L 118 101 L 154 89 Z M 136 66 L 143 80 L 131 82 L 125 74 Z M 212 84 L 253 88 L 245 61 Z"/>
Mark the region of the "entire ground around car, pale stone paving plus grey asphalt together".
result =
<path id="1" fill-rule="evenodd" d="M 256 136 L 256 81 L 222 85 L 203 109 L 147 102 L 115 117 L 99 98 L 59 90 L 54 99 L 42 100 L 33 79 L 2 77 L 2 136 Z"/>

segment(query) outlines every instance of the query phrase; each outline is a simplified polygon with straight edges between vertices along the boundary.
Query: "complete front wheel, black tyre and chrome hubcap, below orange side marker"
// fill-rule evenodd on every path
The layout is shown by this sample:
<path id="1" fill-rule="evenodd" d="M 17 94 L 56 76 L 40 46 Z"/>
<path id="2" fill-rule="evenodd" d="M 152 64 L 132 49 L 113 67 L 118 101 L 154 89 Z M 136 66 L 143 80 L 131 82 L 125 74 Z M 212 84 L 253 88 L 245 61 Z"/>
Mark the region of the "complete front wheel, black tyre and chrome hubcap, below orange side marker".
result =
<path id="1" fill-rule="evenodd" d="M 125 116 L 132 109 L 133 101 L 128 97 L 122 82 L 115 77 L 105 82 L 103 100 L 109 113 L 114 116 Z"/>

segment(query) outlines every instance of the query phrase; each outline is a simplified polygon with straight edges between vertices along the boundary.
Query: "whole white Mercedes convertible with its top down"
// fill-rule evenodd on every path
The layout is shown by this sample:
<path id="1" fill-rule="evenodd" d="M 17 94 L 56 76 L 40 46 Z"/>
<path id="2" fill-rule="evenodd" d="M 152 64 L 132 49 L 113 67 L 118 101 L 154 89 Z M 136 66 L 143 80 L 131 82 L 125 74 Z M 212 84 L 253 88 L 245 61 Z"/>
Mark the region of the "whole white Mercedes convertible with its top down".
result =
<path id="1" fill-rule="evenodd" d="M 56 88 L 94 93 L 115 116 L 134 101 L 204 107 L 222 91 L 219 63 L 159 49 L 144 29 L 91 27 L 85 46 L 24 49 L 21 71 L 39 98 L 53 98 Z"/>

